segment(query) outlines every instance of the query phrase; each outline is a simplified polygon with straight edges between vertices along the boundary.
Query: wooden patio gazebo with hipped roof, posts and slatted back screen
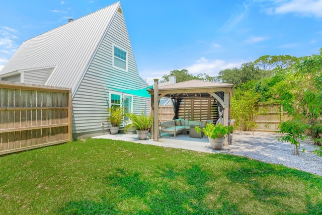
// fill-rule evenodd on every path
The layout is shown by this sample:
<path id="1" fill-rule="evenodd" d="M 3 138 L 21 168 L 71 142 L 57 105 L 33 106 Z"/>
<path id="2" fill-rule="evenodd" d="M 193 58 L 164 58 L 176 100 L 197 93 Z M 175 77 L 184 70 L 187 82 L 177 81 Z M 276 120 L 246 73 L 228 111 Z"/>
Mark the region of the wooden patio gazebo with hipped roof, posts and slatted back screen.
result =
<path id="1" fill-rule="evenodd" d="M 170 98 L 174 106 L 174 119 L 213 120 L 228 125 L 230 120 L 230 104 L 233 95 L 233 84 L 191 80 L 176 84 L 158 86 L 154 79 L 151 95 L 151 116 L 153 124 L 150 138 L 158 140 L 158 104 L 162 97 Z"/>

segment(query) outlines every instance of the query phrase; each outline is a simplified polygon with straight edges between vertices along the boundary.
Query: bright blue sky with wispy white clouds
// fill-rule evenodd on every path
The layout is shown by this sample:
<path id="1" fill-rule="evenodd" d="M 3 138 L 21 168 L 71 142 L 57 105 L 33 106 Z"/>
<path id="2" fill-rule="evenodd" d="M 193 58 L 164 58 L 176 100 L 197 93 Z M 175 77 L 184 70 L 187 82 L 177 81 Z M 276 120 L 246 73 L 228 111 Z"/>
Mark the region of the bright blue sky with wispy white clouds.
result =
<path id="1" fill-rule="evenodd" d="M 0 0 L 0 69 L 21 43 L 116 1 Z M 308 56 L 322 47 L 322 0 L 122 0 L 139 74 L 215 76 L 262 55 Z"/>

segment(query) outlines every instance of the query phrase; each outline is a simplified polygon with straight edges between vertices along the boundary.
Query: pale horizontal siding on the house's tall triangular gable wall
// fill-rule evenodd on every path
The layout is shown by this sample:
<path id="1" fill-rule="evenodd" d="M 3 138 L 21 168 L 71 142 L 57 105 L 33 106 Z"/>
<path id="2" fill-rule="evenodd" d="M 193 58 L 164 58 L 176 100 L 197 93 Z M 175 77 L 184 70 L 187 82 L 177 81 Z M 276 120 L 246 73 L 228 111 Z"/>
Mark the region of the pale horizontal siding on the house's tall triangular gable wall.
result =
<path id="1" fill-rule="evenodd" d="M 112 66 L 113 44 L 128 53 L 128 71 Z M 123 15 L 117 13 L 73 97 L 73 133 L 104 129 L 109 92 L 106 87 L 139 89 L 148 85 L 139 76 Z M 150 112 L 150 99 L 133 96 L 133 112 Z M 107 126 L 105 126 L 107 129 Z"/>

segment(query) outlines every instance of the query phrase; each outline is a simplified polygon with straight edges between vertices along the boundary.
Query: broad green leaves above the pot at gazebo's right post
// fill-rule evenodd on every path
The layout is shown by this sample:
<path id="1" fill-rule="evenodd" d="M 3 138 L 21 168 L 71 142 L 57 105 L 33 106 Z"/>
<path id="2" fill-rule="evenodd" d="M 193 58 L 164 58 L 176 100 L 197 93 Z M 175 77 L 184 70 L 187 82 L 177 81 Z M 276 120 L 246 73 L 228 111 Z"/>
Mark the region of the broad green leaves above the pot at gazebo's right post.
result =
<path id="1" fill-rule="evenodd" d="M 209 136 L 210 138 L 215 139 L 215 138 L 222 138 L 228 135 L 229 132 L 232 132 L 233 127 L 224 126 L 222 124 L 218 124 L 215 126 L 214 124 L 208 123 L 206 127 L 202 129 L 199 126 L 196 126 L 195 129 L 198 133 L 200 133 L 200 131 L 202 130 L 206 136 Z"/>

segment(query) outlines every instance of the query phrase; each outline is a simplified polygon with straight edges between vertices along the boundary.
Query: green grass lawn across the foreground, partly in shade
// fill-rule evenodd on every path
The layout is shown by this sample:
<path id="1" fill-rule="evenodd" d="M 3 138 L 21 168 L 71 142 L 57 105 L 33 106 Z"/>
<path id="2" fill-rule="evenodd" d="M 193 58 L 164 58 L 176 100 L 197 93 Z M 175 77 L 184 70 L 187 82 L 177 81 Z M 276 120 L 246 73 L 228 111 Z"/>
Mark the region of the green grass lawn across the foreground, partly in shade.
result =
<path id="1" fill-rule="evenodd" d="M 322 214 L 322 177 L 107 139 L 0 157 L 0 214 Z"/>

